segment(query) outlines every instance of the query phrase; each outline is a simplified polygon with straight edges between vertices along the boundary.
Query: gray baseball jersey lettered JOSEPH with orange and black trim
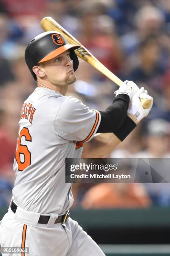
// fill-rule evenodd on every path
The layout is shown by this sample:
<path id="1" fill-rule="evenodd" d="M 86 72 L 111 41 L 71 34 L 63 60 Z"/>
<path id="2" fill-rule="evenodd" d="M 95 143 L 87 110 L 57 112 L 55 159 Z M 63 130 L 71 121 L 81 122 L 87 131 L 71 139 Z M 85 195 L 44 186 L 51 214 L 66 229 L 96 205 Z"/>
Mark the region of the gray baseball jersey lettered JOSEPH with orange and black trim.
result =
<path id="1" fill-rule="evenodd" d="M 73 203 L 65 158 L 80 158 L 100 113 L 80 100 L 37 87 L 23 103 L 14 160 L 13 198 L 25 210 L 62 214 Z"/>

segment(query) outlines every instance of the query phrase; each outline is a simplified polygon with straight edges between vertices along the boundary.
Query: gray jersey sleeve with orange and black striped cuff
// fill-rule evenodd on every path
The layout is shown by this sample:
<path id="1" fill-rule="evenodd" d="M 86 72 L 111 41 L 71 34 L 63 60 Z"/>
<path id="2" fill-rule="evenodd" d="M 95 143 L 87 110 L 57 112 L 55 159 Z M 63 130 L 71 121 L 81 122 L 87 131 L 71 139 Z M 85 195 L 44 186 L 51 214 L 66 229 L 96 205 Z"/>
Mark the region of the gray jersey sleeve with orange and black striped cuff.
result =
<path id="1" fill-rule="evenodd" d="M 66 97 L 55 117 L 55 133 L 69 141 L 87 142 L 95 135 L 100 119 L 97 110 L 72 96 Z"/>

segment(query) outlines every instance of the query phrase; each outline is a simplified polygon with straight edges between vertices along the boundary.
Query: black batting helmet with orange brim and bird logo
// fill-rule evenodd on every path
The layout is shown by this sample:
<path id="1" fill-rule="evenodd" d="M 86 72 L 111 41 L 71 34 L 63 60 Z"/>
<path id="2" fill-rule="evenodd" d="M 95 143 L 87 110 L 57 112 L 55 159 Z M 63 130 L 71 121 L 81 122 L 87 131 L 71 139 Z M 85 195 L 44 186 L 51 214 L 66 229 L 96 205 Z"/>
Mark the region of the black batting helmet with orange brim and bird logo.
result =
<path id="1" fill-rule="evenodd" d="M 78 58 L 75 49 L 80 45 L 68 44 L 67 40 L 59 32 L 47 31 L 33 38 L 25 50 L 25 61 L 35 80 L 37 77 L 32 68 L 38 63 L 50 60 L 63 52 L 70 50 L 70 58 L 73 60 L 74 71 L 78 68 Z"/>

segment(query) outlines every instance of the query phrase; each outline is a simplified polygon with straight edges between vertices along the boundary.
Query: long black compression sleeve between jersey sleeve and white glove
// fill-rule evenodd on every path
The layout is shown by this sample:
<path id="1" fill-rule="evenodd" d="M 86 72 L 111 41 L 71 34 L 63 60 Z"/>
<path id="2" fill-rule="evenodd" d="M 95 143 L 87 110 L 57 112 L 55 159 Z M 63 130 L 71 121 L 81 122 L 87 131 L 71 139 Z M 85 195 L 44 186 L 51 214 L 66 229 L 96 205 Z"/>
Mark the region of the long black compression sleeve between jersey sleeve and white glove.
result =
<path id="1" fill-rule="evenodd" d="M 99 111 L 101 121 L 97 133 L 115 133 L 126 119 L 128 105 L 129 96 L 120 94 L 105 111 Z"/>

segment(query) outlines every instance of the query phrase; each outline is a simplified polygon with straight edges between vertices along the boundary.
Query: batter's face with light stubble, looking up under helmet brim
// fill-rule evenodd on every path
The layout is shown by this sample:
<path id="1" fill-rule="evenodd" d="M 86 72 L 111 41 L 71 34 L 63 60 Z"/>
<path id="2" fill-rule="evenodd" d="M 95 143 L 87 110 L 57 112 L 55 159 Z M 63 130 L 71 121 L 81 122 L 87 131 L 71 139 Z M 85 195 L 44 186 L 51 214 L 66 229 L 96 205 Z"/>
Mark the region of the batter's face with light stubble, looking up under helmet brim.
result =
<path id="1" fill-rule="evenodd" d="M 57 86 L 69 85 L 76 81 L 70 51 L 65 51 L 43 64 L 46 78 Z"/>

